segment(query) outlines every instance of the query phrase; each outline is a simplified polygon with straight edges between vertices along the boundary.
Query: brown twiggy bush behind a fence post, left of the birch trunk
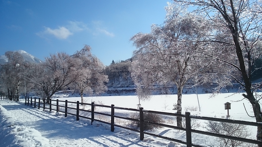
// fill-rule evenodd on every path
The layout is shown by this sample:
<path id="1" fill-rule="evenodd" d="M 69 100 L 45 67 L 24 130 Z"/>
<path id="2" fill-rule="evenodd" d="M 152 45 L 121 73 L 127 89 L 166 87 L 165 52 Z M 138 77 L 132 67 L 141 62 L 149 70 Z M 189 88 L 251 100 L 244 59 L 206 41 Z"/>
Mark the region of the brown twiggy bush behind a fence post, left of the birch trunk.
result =
<path id="1" fill-rule="evenodd" d="M 140 120 L 139 113 L 133 113 L 130 115 L 130 117 L 133 119 Z M 144 112 L 144 121 L 155 122 L 155 123 L 165 123 L 165 120 L 163 120 L 160 115 L 154 114 L 154 113 L 147 113 L 147 112 Z M 130 125 L 132 128 L 135 128 L 135 127 L 139 128 L 140 122 L 131 121 Z M 144 123 L 144 130 L 153 130 L 155 128 L 161 128 L 161 126 L 150 125 L 150 124 Z"/>

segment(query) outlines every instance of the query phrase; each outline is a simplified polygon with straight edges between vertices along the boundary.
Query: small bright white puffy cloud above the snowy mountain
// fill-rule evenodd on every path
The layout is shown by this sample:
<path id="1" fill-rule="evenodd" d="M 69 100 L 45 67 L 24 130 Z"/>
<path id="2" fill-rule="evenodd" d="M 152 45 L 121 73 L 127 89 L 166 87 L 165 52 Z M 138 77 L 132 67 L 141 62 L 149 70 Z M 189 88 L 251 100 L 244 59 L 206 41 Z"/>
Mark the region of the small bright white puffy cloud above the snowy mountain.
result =
<path id="1" fill-rule="evenodd" d="M 58 39 L 66 39 L 68 36 L 73 35 L 72 32 L 70 32 L 65 27 L 58 27 L 58 29 L 51 29 L 50 27 L 45 27 L 45 31 L 42 33 L 37 33 L 38 35 L 43 34 L 51 34 L 57 37 Z"/>

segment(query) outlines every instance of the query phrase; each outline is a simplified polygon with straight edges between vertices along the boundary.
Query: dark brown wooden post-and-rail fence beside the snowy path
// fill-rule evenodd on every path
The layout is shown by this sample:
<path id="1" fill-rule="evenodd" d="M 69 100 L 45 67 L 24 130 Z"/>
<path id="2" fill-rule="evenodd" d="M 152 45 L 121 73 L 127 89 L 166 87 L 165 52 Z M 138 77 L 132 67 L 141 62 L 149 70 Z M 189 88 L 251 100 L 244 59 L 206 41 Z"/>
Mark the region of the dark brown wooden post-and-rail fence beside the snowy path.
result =
<path id="1" fill-rule="evenodd" d="M 64 106 L 59 105 L 59 102 L 64 102 L 65 105 Z M 68 103 L 76 104 L 76 108 L 68 107 Z M 210 132 L 201 131 L 201 130 L 195 130 L 195 129 L 191 128 L 191 118 L 192 119 L 200 119 L 200 120 L 217 121 L 217 122 L 227 122 L 227 123 L 233 123 L 233 124 L 262 126 L 262 123 L 258 123 L 258 122 L 248 122 L 248 121 L 241 121 L 241 120 L 229 120 L 229 119 L 221 119 L 221 118 L 213 118 L 213 117 L 194 116 L 194 115 L 190 115 L 190 112 L 186 112 L 185 115 L 184 114 L 180 115 L 180 114 L 176 114 L 176 113 L 144 110 L 143 107 L 140 107 L 139 109 L 132 109 L 132 108 L 115 107 L 114 104 L 112 104 L 111 106 L 107 106 L 107 105 L 94 104 L 94 102 L 92 102 L 91 104 L 88 104 L 88 103 L 80 103 L 79 101 L 77 101 L 77 102 L 68 102 L 67 100 L 61 101 L 59 99 L 57 99 L 57 100 L 49 100 L 49 104 L 46 104 L 46 100 L 45 99 L 40 99 L 40 98 L 36 99 L 36 98 L 32 98 L 32 97 L 27 97 L 25 99 L 25 104 L 27 104 L 27 105 L 30 104 L 30 106 L 38 107 L 38 109 L 43 108 L 43 111 L 45 109 L 49 109 L 49 112 L 51 112 L 52 110 L 55 110 L 56 112 L 62 112 L 62 113 L 65 113 L 65 117 L 67 117 L 68 114 L 74 115 L 74 116 L 76 116 L 76 120 L 77 121 L 79 120 L 79 117 L 82 117 L 82 118 L 85 118 L 85 119 L 89 119 L 89 120 L 91 120 L 91 125 L 92 125 L 92 123 L 94 121 L 102 122 L 102 123 L 111 125 L 111 131 L 112 132 L 114 132 L 114 127 L 119 127 L 119 128 L 132 130 L 132 131 L 135 131 L 135 132 L 139 132 L 140 133 L 140 140 L 143 140 L 144 139 L 144 134 L 147 134 L 147 135 L 155 136 L 155 137 L 158 137 L 158 138 L 163 138 L 163 139 L 166 139 L 166 140 L 169 140 L 169 141 L 174 141 L 174 142 L 177 142 L 177 143 L 185 144 L 185 145 L 187 145 L 187 147 L 191 147 L 191 146 L 203 147 L 201 145 L 192 143 L 192 137 L 191 137 L 192 133 L 198 133 L 198 134 L 204 134 L 204 135 L 215 136 L 215 137 L 220 137 L 220 138 L 227 138 L 227 139 L 236 140 L 236 141 L 242 141 L 242 142 L 246 142 L 246 143 L 253 143 L 253 144 L 260 145 L 260 146 L 262 145 L 262 141 L 257 141 L 257 140 L 253 140 L 253 139 L 247 139 L 247 138 L 239 138 L 239 137 L 222 135 L 222 134 L 216 134 L 216 133 L 210 133 Z M 90 105 L 91 106 L 91 111 L 90 110 L 80 109 L 79 105 L 81 105 L 81 104 L 83 104 L 83 105 Z M 48 106 L 48 107 L 46 107 L 46 106 Z M 52 106 L 55 106 L 56 109 L 52 109 Z M 94 111 L 95 110 L 94 109 L 95 106 L 111 108 L 111 114 L 106 114 L 106 113 L 102 113 L 102 112 L 95 112 Z M 65 111 L 61 111 L 59 109 L 60 107 L 65 108 Z M 67 112 L 68 109 L 76 110 L 76 114 Z M 134 119 L 134 118 L 122 117 L 122 116 L 115 115 L 115 109 L 139 112 L 139 117 L 140 118 L 138 120 L 138 119 Z M 91 113 L 91 118 L 79 115 L 80 111 Z M 159 114 L 159 115 L 185 117 L 186 128 L 181 128 L 181 127 L 177 127 L 177 126 L 173 126 L 173 125 L 166 125 L 166 124 L 161 124 L 161 123 L 154 123 L 154 122 L 144 121 L 144 112 L 154 113 L 154 114 Z M 111 117 L 111 122 L 105 122 L 105 121 L 102 121 L 102 120 L 94 119 L 94 114 L 109 116 L 109 117 Z M 124 126 L 121 126 L 121 125 L 117 125 L 117 124 L 115 124 L 115 118 L 120 118 L 120 119 L 125 119 L 125 120 L 131 120 L 131 121 L 139 122 L 140 130 L 136 130 L 136 129 L 133 129 L 133 128 L 128 128 L 128 127 L 124 127 Z M 162 126 L 162 127 L 167 127 L 167 128 L 172 128 L 172 129 L 186 131 L 186 142 L 182 141 L 182 140 L 178 140 L 178 139 L 169 138 L 169 137 L 165 137 L 165 136 L 162 136 L 162 135 L 157 135 L 157 134 L 146 132 L 146 131 L 144 131 L 144 124 L 151 124 L 151 125 L 157 125 L 157 126 Z"/>

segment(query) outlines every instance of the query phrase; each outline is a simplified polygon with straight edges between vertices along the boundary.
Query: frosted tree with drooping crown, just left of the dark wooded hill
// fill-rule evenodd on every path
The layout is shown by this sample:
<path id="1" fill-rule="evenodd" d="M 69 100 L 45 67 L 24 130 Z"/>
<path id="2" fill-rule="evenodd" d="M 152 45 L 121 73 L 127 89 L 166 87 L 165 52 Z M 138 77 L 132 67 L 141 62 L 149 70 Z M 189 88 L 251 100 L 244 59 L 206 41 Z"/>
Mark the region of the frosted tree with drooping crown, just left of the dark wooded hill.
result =
<path id="1" fill-rule="evenodd" d="M 100 94 L 107 90 L 105 83 L 108 76 L 103 73 L 104 64 L 91 53 L 91 47 L 85 45 L 80 51 L 76 51 L 73 58 L 78 59 L 81 69 L 84 71 L 83 76 L 72 83 L 75 90 L 80 92 L 81 102 L 83 103 L 83 93 Z"/>

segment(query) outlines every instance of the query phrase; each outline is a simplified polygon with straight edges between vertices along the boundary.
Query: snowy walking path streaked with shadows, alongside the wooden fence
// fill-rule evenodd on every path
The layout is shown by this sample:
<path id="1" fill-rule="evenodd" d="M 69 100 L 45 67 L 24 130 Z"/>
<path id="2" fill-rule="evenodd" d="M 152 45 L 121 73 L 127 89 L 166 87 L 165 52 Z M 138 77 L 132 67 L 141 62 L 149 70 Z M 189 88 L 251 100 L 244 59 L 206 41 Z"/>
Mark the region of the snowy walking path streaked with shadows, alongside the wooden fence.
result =
<path id="1" fill-rule="evenodd" d="M 111 132 L 109 125 L 103 124 L 103 126 L 101 126 L 98 123 L 90 125 L 90 120 L 76 121 L 73 116 L 57 116 L 54 112 L 49 113 L 47 111 L 31 108 L 21 102 L 17 103 L 8 100 L 0 100 L 0 104 L 15 120 L 22 122 L 26 127 L 34 128 L 39 131 L 42 137 L 49 140 L 48 143 L 52 147 L 181 146 L 178 143 L 158 140 L 156 138 L 152 139 L 152 137 L 145 138 L 146 141 L 140 141 L 139 133 L 136 132 L 120 128 L 115 129 L 115 132 Z"/>

